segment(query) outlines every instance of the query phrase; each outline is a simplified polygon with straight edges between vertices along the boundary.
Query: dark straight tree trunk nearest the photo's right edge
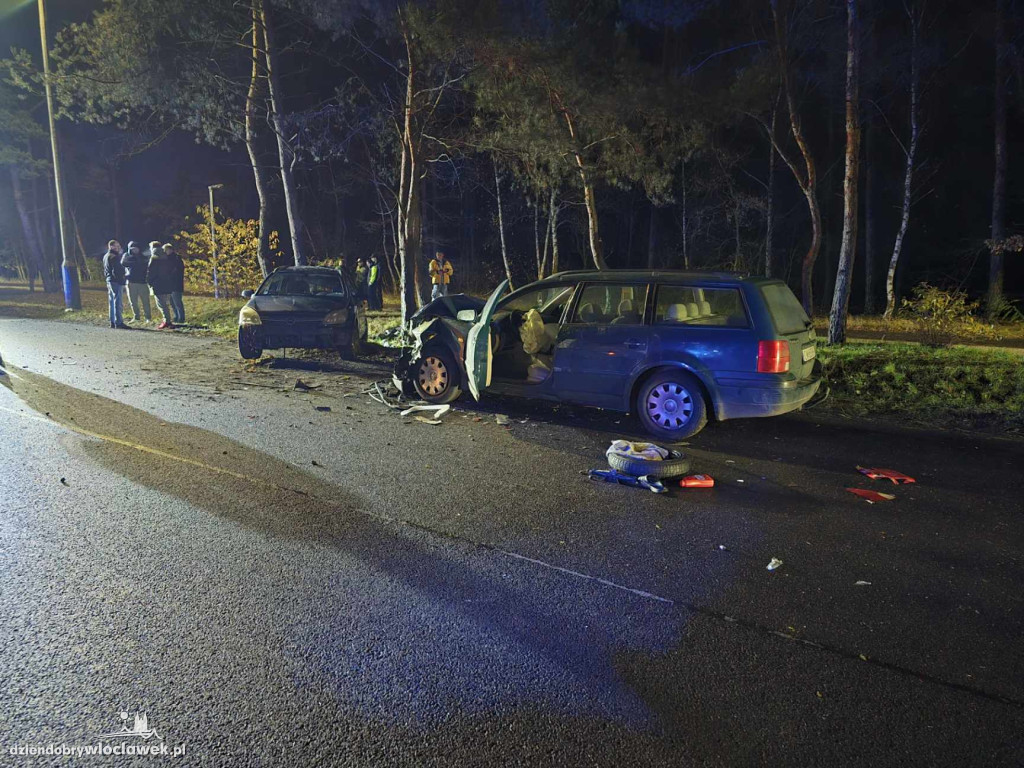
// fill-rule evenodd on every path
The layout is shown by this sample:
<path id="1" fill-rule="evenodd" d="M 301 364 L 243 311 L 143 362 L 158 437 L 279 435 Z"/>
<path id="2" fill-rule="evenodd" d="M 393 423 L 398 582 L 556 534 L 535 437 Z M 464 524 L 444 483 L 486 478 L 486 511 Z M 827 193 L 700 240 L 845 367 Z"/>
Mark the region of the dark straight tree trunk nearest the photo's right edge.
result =
<path id="1" fill-rule="evenodd" d="M 992 174 L 992 228 L 990 237 L 999 242 L 1007 237 L 1007 4 L 995 0 L 995 92 L 994 134 L 995 169 Z M 986 311 L 991 319 L 1002 304 L 1004 253 L 989 249 L 988 302 Z"/>

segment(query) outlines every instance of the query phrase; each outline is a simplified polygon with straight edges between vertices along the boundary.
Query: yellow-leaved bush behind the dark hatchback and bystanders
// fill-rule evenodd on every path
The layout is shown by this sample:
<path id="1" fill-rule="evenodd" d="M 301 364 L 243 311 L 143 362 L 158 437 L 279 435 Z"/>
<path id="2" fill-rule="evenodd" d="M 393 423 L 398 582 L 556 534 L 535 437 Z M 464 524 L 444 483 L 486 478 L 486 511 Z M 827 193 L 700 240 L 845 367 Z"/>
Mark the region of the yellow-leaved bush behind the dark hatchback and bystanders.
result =
<path id="1" fill-rule="evenodd" d="M 219 215 L 220 209 L 214 209 Z M 255 289 L 263 282 L 257 253 L 259 251 L 259 224 L 255 219 L 219 218 L 216 225 L 217 258 L 213 259 L 210 241 L 210 209 L 196 209 L 200 222 L 191 229 L 174 236 L 180 244 L 185 261 L 185 283 L 193 293 L 213 293 L 213 270 L 217 270 L 217 285 L 223 297 L 240 296 L 247 288 Z M 185 219 L 188 221 L 188 219 Z M 278 252 L 276 231 L 269 234 L 272 256 Z"/>

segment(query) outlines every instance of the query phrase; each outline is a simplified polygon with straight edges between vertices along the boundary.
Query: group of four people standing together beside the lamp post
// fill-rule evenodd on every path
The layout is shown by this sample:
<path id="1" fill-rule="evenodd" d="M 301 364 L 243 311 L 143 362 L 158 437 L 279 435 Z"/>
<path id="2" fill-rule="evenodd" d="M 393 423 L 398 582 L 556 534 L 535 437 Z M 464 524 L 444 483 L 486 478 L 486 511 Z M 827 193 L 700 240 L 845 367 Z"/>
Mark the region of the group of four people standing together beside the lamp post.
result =
<path id="1" fill-rule="evenodd" d="M 175 325 L 184 324 L 185 262 L 171 243 L 160 245 L 154 241 L 143 253 L 134 241 L 123 251 L 121 244 L 112 240 L 103 256 L 103 276 L 106 279 L 111 328 L 128 328 L 124 322 L 125 293 L 136 323 L 141 323 L 143 316 L 146 323 L 153 322 L 152 294 L 164 317 L 157 328 L 173 329 Z"/>

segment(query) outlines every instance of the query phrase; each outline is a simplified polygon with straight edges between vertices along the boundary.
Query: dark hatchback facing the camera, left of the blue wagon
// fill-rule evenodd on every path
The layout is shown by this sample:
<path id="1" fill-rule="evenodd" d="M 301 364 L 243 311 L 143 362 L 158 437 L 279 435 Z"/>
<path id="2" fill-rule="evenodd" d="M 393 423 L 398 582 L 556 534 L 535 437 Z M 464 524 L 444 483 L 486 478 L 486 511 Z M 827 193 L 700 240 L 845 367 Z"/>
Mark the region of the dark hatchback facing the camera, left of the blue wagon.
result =
<path id="1" fill-rule="evenodd" d="M 367 338 L 362 296 L 338 269 L 288 266 L 275 269 L 239 312 L 239 352 L 246 359 L 264 349 L 334 349 L 353 356 Z"/>

